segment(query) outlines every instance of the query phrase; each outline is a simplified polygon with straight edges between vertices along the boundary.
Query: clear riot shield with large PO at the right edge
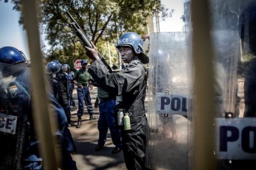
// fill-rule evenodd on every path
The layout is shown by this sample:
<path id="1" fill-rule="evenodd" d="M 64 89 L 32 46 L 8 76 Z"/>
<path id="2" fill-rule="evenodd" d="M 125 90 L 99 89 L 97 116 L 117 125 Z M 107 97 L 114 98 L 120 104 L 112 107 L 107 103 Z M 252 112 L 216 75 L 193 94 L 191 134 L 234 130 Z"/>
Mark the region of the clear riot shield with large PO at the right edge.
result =
<path id="1" fill-rule="evenodd" d="M 246 51 L 246 46 L 248 49 L 256 46 L 248 36 L 248 31 L 256 28 L 255 24 L 250 25 L 256 21 L 256 3 L 251 2 L 212 0 L 210 3 L 216 95 L 214 155 L 218 160 L 217 169 L 242 169 L 246 165 L 254 165 L 256 159 L 256 112 L 251 112 L 250 118 L 244 117 L 247 108 L 254 108 L 253 101 L 256 99 L 251 97 L 256 94 L 255 86 L 251 85 L 256 74 L 250 74 L 253 68 L 247 64 L 253 62 L 251 58 L 255 58 L 256 53 Z M 250 10 L 244 12 L 246 6 Z M 254 10 L 251 10 L 253 7 Z M 250 37 L 250 40 L 246 41 L 246 37 Z M 248 54 L 251 58 L 247 57 Z M 249 80 L 248 86 L 246 80 Z M 247 91 L 247 87 L 251 90 Z"/>

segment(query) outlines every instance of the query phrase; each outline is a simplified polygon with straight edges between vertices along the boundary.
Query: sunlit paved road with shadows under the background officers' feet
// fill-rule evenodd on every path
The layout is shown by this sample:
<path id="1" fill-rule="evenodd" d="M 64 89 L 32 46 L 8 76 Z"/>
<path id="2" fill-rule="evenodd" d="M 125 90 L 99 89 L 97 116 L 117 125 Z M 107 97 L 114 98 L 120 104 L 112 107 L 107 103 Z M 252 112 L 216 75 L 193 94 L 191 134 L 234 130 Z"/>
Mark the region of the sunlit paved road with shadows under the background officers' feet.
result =
<path id="1" fill-rule="evenodd" d="M 76 90 L 73 92 L 76 105 L 78 106 Z M 94 104 L 97 96 L 96 87 L 90 91 L 90 96 L 92 98 L 92 103 Z M 71 120 L 73 120 L 75 125 L 77 122 L 76 113 L 77 111 L 73 111 L 71 113 Z M 98 116 L 98 109 L 94 109 L 94 113 Z M 97 120 L 89 121 L 89 114 L 87 112 L 82 116 L 81 128 L 77 129 L 75 126 L 72 126 L 69 130 L 71 131 L 72 137 L 77 146 L 77 154 L 72 155 L 72 157 L 76 161 L 77 168 L 79 170 L 126 169 L 125 162 L 123 160 L 123 153 L 119 152 L 117 154 L 111 154 L 111 151 L 114 149 L 114 145 L 110 133 L 108 133 L 105 147 L 98 152 L 94 151 L 98 140 Z"/>

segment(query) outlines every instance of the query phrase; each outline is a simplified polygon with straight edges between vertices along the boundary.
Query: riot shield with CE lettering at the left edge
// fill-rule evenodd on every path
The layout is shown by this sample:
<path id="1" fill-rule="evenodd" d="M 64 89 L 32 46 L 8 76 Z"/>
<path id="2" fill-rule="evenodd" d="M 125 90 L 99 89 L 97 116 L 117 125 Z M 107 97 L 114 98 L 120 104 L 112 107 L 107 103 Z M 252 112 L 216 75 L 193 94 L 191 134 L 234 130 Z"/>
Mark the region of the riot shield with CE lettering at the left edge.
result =
<path id="1" fill-rule="evenodd" d="M 23 169 L 31 113 L 28 67 L 0 63 L 0 169 Z"/>

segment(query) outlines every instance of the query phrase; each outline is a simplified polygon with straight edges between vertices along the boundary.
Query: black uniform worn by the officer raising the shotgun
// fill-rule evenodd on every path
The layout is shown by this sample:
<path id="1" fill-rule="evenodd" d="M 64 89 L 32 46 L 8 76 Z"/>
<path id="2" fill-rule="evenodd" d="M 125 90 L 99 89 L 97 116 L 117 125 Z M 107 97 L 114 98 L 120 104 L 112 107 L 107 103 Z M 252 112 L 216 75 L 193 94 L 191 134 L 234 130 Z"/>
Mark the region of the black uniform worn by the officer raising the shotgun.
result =
<path id="1" fill-rule="evenodd" d="M 131 113 L 131 130 L 121 127 L 123 155 L 128 169 L 142 169 L 146 147 L 147 118 L 144 109 L 146 97 L 146 69 L 139 60 L 131 61 L 123 71 L 108 74 L 109 70 L 100 60 L 89 67 L 89 73 L 109 92 L 122 95 L 118 108 Z"/>

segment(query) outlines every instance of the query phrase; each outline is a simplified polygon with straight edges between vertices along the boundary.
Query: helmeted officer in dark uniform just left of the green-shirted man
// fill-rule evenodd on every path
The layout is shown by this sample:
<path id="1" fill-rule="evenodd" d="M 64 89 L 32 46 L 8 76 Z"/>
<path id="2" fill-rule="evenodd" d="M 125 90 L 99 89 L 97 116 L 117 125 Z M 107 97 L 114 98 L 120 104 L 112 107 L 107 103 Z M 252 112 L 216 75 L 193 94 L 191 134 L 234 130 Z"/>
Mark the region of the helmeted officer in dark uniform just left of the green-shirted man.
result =
<path id="1" fill-rule="evenodd" d="M 73 77 L 75 76 L 75 73 L 70 70 L 70 66 L 67 63 L 63 65 L 62 69 L 68 77 L 68 88 L 69 88 L 68 94 L 69 94 L 69 99 L 70 99 L 69 104 L 71 106 L 71 110 L 75 111 L 76 103 L 73 98 L 73 90 L 75 89 Z"/>

